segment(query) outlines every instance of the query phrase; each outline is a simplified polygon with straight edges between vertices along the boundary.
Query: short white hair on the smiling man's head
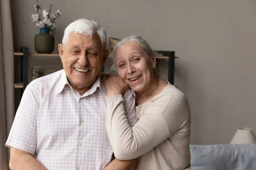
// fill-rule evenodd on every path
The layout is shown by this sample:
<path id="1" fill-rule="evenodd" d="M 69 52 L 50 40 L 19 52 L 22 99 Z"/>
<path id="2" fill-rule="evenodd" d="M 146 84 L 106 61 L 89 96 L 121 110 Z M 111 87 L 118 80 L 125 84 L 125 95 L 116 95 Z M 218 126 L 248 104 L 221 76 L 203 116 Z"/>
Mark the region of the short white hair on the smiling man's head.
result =
<path id="1" fill-rule="evenodd" d="M 95 21 L 79 19 L 74 21 L 73 23 L 70 23 L 70 25 L 68 25 L 64 31 L 64 36 L 62 39 L 63 48 L 65 47 L 65 44 L 71 32 L 74 32 L 76 34 L 83 34 L 90 37 L 98 34 L 103 50 L 105 50 L 106 48 L 106 31 Z"/>

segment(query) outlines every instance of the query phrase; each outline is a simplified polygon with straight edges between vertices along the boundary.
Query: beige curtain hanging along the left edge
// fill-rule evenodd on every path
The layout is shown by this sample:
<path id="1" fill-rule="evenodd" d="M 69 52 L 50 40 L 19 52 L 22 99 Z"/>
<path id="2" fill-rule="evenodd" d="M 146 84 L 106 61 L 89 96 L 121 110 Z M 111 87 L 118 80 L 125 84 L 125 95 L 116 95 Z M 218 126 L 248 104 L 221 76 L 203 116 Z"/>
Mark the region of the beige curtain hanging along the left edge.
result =
<path id="1" fill-rule="evenodd" d="M 5 143 L 15 115 L 13 52 L 10 0 L 0 0 L 0 170 L 9 169 Z"/>

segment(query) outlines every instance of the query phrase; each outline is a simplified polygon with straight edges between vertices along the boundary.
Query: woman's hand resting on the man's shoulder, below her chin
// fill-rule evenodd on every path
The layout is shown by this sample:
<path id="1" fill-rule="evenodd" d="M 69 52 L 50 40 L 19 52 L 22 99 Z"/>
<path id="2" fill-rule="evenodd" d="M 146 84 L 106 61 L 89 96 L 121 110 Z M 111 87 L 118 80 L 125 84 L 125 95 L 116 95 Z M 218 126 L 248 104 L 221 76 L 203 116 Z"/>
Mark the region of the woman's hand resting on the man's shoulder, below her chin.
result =
<path id="1" fill-rule="evenodd" d="M 123 94 L 127 90 L 128 84 L 118 75 L 114 76 L 110 73 L 102 73 L 101 75 L 104 80 L 104 85 L 107 91 L 108 98 L 111 98 L 118 94 Z"/>

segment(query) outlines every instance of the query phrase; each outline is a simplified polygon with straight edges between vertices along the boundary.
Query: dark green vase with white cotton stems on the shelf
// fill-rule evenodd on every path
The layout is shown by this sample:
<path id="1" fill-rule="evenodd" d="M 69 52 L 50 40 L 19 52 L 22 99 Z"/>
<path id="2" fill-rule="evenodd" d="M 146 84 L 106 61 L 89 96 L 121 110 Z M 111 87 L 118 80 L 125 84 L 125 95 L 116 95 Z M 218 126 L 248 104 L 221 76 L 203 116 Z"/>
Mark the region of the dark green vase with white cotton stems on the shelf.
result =
<path id="1" fill-rule="evenodd" d="M 54 50 L 54 36 L 55 34 L 55 20 L 57 17 L 60 17 L 62 12 L 58 9 L 54 14 L 51 14 L 52 5 L 50 5 L 49 11 L 47 9 L 43 10 L 43 20 L 41 15 L 38 14 L 38 11 L 41 10 L 41 6 L 38 4 L 35 5 L 36 14 L 32 14 L 32 21 L 35 23 L 35 26 L 40 28 L 40 34 L 35 35 L 35 51 L 38 53 L 50 54 Z"/>

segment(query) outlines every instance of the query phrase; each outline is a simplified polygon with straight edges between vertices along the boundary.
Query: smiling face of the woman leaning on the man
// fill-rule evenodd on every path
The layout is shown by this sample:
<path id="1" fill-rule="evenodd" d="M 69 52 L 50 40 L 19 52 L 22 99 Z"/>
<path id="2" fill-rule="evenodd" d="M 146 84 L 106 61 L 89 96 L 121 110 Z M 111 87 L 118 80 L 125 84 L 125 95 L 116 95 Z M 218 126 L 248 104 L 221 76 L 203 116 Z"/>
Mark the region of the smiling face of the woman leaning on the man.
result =
<path id="1" fill-rule="evenodd" d="M 117 48 L 115 63 L 119 77 L 133 91 L 142 93 L 149 88 L 154 79 L 156 59 L 148 57 L 136 42 L 127 42 Z"/>

